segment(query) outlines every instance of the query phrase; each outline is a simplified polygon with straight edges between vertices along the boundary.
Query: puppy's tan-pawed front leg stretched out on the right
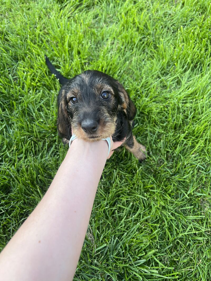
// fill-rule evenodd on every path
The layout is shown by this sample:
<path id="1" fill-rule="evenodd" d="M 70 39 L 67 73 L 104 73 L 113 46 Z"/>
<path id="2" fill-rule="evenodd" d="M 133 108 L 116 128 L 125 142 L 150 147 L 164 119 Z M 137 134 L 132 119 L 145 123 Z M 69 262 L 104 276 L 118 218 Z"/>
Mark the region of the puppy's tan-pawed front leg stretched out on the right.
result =
<path id="1" fill-rule="evenodd" d="M 134 137 L 132 131 L 127 136 L 125 140 L 125 147 L 133 153 L 133 155 L 138 158 L 139 162 L 146 159 L 146 148 L 142 144 L 138 143 Z"/>

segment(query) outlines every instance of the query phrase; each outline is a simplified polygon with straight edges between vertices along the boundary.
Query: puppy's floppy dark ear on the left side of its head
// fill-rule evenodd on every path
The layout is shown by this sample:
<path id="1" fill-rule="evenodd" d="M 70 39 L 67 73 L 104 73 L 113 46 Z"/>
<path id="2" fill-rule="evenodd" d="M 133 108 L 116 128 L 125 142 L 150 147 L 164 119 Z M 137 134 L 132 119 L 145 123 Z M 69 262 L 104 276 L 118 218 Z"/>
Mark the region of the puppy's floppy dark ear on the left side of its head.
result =
<path id="1" fill-rule="evenodd" d="M 67 112 L 66 102 L 64 99 L 64 92 L 60 99 L 58 99 L 58 115 L 57 115 L 57 129 L 60 137 L 70 139 L 71 134 L 71 123 L 70 117 Z"/>

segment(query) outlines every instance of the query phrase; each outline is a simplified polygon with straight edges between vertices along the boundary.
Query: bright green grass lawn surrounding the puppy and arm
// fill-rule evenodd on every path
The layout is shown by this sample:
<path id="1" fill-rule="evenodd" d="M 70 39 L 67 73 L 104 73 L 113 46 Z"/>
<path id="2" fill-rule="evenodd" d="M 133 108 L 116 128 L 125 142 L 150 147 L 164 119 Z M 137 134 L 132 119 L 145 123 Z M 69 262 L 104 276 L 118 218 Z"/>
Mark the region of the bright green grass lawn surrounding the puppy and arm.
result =
<path id="1" fill-rule="evenodd" d="M 65 76 L 118 79 L 150 152 L 107 161 L 74 280 L 211 280 L 211 4 L 26 2 L 0 0 L 0 248 L 67 151 L 46 53 Z"/>

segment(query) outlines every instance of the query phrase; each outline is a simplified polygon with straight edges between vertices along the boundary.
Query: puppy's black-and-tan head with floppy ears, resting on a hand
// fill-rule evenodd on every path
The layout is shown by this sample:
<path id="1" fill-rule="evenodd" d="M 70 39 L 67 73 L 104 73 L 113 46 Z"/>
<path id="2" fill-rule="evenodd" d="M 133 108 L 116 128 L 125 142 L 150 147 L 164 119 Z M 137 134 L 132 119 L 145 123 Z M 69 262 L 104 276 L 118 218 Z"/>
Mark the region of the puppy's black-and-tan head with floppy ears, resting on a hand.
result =
<path id="1" fill-rule="evenodd" d="M 58 130 L 67 139 L 71 130 L 80 139 L 95 141 L 113 135 L 117 113 L 129 120 L 135 106 L 122 85 L 99 71 L 85 71 L 62 88 L 58 110 Z"/>

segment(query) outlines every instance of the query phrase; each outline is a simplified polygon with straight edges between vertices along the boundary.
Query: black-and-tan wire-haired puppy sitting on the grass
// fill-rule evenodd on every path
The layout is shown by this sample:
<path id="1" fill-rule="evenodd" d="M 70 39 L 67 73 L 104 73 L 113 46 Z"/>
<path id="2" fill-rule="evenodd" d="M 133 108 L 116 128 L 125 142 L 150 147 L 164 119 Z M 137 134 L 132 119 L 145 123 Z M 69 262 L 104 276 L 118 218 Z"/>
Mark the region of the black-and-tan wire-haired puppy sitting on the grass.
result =
<path id="1" fill-rule="evenodd" d="M 58 96 L 57 128 L 64 143 L 71 130 L 86 141 L 96 141 L 110 135 L 114 141 L 125 137 L 125 147 L 141 162 L 146 148 L 132 133 L 131 122 L 136 108 L 124 87 L 111 76 L 87 70 L 71 79 L 63 77 L 46 56 L 46 64 L 62 87 Z"/>

